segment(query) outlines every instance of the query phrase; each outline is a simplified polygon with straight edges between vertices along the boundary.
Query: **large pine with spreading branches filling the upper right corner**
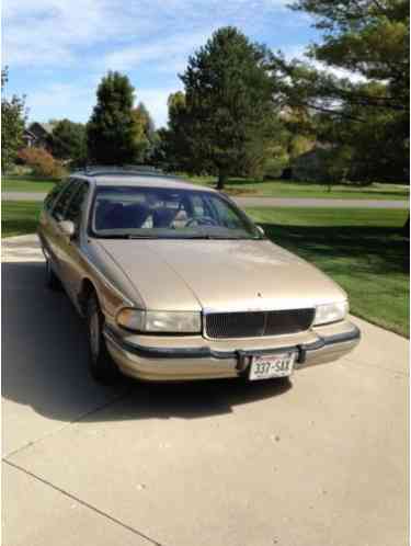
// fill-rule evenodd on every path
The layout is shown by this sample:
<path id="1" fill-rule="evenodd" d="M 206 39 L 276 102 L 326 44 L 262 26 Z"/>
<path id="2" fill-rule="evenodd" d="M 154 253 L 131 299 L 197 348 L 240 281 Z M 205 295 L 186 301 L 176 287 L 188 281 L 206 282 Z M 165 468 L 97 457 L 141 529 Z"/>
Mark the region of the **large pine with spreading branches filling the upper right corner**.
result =
<path id="1" fill-rule="evenodd" d="M 276 99 L 319 113 L 318 138 L 352 148 L 351 178 L 408 178 L 409 2 L 297 0 L 293 9 L 316 18 L 322 43 L 308 50 L 315 64 L 273 56 Z"/>

